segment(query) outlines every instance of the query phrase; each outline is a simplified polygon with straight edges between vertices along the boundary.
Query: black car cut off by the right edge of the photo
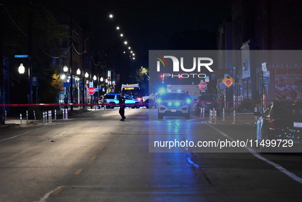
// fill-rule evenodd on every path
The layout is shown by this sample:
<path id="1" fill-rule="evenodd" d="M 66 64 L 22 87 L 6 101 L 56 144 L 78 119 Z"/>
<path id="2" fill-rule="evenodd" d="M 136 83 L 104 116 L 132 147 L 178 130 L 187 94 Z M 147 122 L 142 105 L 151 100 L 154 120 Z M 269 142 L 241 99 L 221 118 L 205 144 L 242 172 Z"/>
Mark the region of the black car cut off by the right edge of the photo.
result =
<path id="1" fill-rule="evenodd" d="M 255 140 L 260 146 L 260 152 L 273 150 L 301 149 L 302 143 L 302 103 L 297 101 L 272 102 L 264 113 L 255 112 L 261 116 L 256 122 Z M 268 140 L 267 142 L 265 142 Z M 279 146 L 269 146 L 272 140 L 281 140 Z M 291 147 L 288 143 L 293 143 Z M 262 144 L 261 144 L 262 143 Z M 285 147 L 286 146 L 286 147 Z"/>

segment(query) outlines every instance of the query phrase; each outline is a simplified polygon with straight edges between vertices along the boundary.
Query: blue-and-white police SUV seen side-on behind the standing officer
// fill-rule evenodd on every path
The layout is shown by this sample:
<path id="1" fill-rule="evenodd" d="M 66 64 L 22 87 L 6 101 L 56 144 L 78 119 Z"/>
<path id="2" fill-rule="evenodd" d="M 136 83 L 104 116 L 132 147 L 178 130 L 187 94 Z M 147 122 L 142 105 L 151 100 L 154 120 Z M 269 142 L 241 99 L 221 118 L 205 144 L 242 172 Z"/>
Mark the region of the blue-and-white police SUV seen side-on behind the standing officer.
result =
<path id="1" fill-rule="evenodd" d="M 142 103 L 141 100 L 131 98 L 128 95 L 124 95 L 124 96 L 125 96 L 126 107 L 131 107 L 131 108 L 141 107 L 141 103 Z M 102 99 L 101 103 L 107 104 L 106 108 L 113 109 L 115 106 L 120 106 L 119 99 L 120 99 L 120 94 L 106 94 Z"/>

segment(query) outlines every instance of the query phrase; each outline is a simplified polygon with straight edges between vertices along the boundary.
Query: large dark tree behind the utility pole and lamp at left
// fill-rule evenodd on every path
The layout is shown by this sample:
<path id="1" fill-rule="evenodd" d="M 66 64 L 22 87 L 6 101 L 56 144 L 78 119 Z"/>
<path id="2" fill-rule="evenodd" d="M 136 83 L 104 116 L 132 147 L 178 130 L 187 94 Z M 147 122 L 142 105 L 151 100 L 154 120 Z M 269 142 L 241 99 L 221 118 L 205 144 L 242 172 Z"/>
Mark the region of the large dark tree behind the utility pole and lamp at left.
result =
<path id="1" fill-rule="evenodd" d="M 69 38 L 68 27 L 57 23 L 54 15 L 40 5 L 32 5 L 32 17 L 28 17 L 28 4 L 4 4 L 8 14 L 4 15 L 4 55 L 8 58 L 8 69 L 11 103 L 28 103 L 28 74 L 20 76 L 18 66 L 24 63 L 28 70 L 28 58 L 14 58 L 14 55 L 29 55 L 29 21 L 32 21 L 32 68 L 33 76 L 38 78 L 38 102 L 54 103 L 59 88 L 52 85 L 53 75 L 58 72 L 58 66 L 53 66 L 54 58 L 63 53 L 58 49 L 58 41 Z M 27 72 L 26 72 L 27 73 Z M 8 82 L 8 81 L 7 81 Z M 21 93 L 20 93 L 21 92 Z M 50 93 L 56 92 L 56 93 Z"/>

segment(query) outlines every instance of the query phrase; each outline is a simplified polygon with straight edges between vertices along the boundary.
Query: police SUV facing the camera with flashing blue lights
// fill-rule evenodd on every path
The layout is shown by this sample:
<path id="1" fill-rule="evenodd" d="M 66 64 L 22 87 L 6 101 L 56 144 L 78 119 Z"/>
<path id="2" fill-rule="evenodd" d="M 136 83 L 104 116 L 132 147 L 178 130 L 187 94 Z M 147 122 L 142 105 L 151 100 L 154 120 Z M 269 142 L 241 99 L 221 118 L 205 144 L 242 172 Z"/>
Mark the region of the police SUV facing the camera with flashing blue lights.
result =
<path id="1" fill-rule="evenodd" d="M 169 92 L 156 98 L 158 103 L 158 119 L 164 116 L 184 116 L 190 118 L 191 99 L 185 93 Z"/>

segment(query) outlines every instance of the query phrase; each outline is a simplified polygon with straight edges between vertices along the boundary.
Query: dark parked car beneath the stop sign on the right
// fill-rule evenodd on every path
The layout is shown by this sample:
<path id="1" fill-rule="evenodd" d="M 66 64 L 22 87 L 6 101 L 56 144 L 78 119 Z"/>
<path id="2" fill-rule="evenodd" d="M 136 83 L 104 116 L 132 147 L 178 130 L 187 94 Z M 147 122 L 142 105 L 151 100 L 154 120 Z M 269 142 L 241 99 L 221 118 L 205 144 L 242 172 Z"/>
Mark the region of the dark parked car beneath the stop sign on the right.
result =
<path id="1" fill-rule="evenodd" d="M 200 108 L 210 111 L 210 109 L 217 110 L 217 116 L 220 116 L 219 103 L 215 95 L 200 95 L 197 98 L 197 103 L 195 104 L 195 115 L 200 115 Z"/>

